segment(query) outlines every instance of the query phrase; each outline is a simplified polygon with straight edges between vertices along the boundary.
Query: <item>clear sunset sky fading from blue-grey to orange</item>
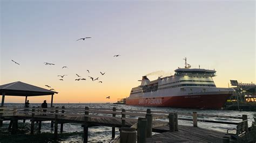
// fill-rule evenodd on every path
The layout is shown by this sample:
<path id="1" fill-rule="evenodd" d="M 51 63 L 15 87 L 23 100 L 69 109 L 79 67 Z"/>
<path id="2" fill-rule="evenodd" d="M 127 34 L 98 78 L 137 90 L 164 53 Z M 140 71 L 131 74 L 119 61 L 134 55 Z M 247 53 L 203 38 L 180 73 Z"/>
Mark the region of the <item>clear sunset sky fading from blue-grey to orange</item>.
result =
<path id="1" fill-rule="evenodd" d="M 116 102 L 129 97 L 143 75 L 156 71 L 173 75 L 185 66 L 185 57 L 192 68 L 217 70 L 213 77 L 217 87 L 228 87 L 230 80 L 256 81 L 255 1 L 1 0 L 0 4 L 0 85 L 21 81 L 48 89 L 47 84 L 59 92 L 55 103 Z M 92 38 L 76 41 L 84 37 Z M 64 74 L 68 76 L 60 81 L 57 75 Z M 75 81 L 76 74 L 86 81 Z M 50 102 L 50 96 L 28 99 Z M 24 100 L 5 97 L 5 103 Z"/>

